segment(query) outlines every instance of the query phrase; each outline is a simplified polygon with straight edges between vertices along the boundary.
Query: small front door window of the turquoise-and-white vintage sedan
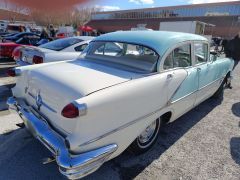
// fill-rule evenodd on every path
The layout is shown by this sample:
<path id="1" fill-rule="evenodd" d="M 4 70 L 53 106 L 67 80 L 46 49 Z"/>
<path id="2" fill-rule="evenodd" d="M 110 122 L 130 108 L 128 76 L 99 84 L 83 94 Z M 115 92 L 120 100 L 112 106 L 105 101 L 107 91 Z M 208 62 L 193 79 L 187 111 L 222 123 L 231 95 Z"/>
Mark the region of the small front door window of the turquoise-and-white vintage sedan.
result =
<path id="1" fill-rule="evenodd" d="M 208 44 L 194 43 L 195 63 L 201 64 L 208 61 Z"/>

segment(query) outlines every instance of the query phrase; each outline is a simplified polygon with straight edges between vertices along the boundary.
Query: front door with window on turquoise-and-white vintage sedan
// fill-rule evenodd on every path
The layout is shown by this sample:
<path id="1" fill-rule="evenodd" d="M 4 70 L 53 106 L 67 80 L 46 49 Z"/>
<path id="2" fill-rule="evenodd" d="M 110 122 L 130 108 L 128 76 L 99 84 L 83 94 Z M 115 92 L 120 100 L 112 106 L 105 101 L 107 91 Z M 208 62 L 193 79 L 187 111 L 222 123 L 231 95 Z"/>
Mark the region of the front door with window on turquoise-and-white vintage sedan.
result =
<path id="1" fill-rule="evenodd" d="M 209 47 L 207 42 L 194 42 L 195 68 L 198 72 L 198 92 L 195 105 L 203 102 L 213 94 L 216 80 L 217 66 L 209 61 Z"/>

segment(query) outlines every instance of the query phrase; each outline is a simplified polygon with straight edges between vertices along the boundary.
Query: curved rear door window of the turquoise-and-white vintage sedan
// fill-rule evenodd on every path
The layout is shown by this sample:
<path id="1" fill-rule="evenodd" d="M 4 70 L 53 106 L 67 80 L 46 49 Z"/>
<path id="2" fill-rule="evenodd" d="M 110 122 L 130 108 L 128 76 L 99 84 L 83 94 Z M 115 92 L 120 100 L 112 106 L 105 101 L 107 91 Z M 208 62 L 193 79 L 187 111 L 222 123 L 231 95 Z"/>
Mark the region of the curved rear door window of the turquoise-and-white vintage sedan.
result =
<path id="1" fill-rule="evenodd" d="M 185 44 L 175 48 L 165 59 L 163 69 L 191 66 L 191 45 Z"/>

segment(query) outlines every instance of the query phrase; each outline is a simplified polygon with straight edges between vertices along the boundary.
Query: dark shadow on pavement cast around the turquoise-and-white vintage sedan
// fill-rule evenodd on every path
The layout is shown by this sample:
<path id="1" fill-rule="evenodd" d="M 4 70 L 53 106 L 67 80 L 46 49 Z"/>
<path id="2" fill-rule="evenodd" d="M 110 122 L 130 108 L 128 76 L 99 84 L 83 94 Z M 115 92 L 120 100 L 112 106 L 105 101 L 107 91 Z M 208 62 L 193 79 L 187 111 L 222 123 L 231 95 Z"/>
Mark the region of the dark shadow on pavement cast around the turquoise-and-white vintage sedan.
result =
<path id="1" fill-rule="evenodd" d="M 189 129 L 203 119 L 221 103 L 209 99 L 176 121 L 163 127 L 156 145 L 143 155 L 134 156 L 125 151 L 117 158 L 105 163 L 98 171 L 84 179 L 133 179 L 176 143 Z M 4 179 L 65 179 L 56 163 L 43 165 L 43 158 L 50 152 L 25 129 L 0 135 L 0 169 Z"/>

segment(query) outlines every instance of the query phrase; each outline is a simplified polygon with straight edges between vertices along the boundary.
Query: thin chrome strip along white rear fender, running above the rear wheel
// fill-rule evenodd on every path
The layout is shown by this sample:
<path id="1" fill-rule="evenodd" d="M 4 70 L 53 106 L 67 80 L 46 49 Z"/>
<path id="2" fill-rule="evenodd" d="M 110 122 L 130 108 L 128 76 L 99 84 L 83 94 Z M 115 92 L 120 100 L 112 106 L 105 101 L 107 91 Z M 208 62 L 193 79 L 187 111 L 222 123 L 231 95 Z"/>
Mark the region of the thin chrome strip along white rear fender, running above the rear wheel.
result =
<path id="1" fill-rule="evenodd" d="M 127 128 L 128 126 L 131 126 L 131 125 L 137 123 L 138 121 L 141 121 L 141 120 L 143 120 L 143 119 L 146 119 L 146 118 L 148 118 L 148 117 L 156 114 L 158 111 L 161 111 L 161 110 L 164 109 L 165 107 L 167 107 L 167 106 L 165 105 L 165 106 L 163 106 L 162 108 L 157 109 L 156 111 L 153 111 L 153 112 L 151 112 L 151 113 L 149 113 L 149 114 L 147 114 L 147 115 L 145 115 L 145 116 L 139 117 L 139 118 L 137 118 L 137 119 L 135 119 L 135 120 L 133 120 L 133 121 L 130 121 L 130 122 L 126 123 L 126 124 L 123 124 L 122 126 L 116 128 L 116 129 L 113 129 L 113 130 L 111 130 L 111 131 L 109 131 L 109 132 L 107 132 L 107 133 L 105 133 L 105 134 L 103 134 L 103 135 L 101 135 L 101 136 L 98 136 L 98 137 L 96 137 L 96 138 L 94 138 L 94 139 L 91 139 L 91 140 L 89 140 L 89 141 L 86 141 L 86 142 L 80 144 L 79 147 L 80 147 L 80 146 L 85 146 L 85 145 L 91 144 L 91 143 L 96 142 L 96 141 L 99 141 L 100 139 L 103 139 L 103 138 L 105 138 L 105 137 L 107 137 L 107 136 L 109 136 L 109 135 L 111 135 L 111 134 L 113 134 L 113 133 L 115 133 L 115 132 L 117 132 L 117 131 L 120 131 L 120 130 L 122 130 L 122 129 L 125 129 L 125 128 Z"/>

